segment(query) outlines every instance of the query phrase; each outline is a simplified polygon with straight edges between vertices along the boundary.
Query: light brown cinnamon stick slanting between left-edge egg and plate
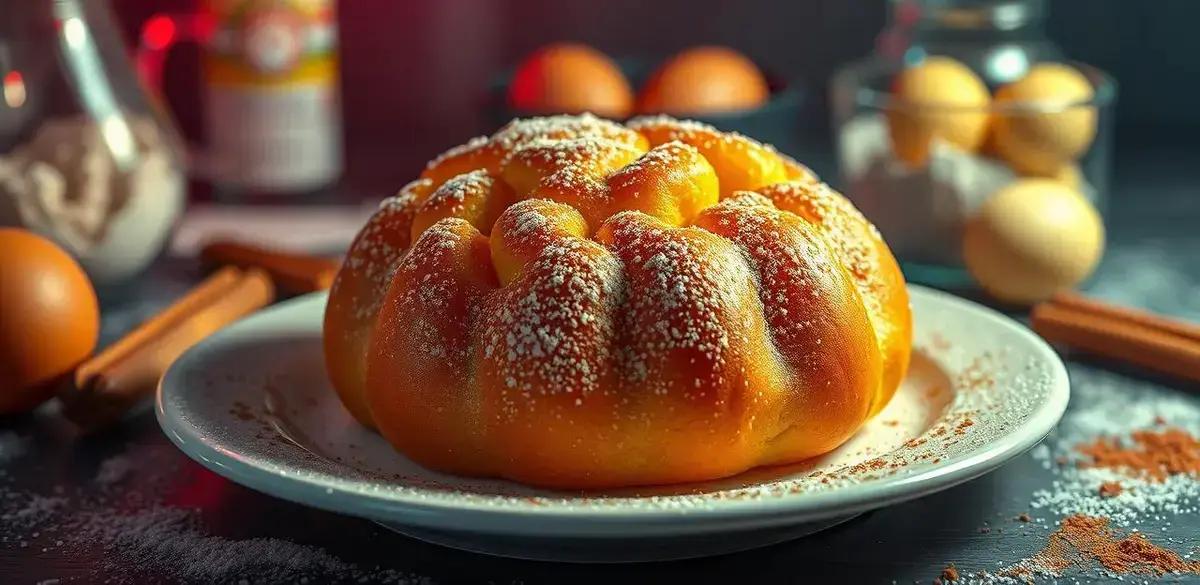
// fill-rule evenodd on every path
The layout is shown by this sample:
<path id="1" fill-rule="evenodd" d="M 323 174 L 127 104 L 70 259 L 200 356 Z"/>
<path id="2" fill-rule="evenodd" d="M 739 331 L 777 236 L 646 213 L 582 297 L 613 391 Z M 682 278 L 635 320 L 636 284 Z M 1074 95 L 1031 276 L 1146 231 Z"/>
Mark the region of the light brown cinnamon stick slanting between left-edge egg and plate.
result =
<path id="1" fill-rule="evenodd" d="M 115 421 L 154 393 L 162 374 L 184 351 L 274 300 L 275 287 L 266 272 L 218 271 L 80 364 L 74 386 L 60 394 L 64 415 L 85 428 Z"/>

